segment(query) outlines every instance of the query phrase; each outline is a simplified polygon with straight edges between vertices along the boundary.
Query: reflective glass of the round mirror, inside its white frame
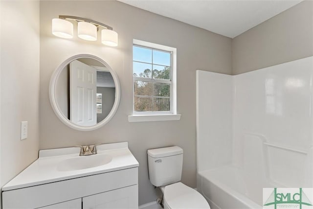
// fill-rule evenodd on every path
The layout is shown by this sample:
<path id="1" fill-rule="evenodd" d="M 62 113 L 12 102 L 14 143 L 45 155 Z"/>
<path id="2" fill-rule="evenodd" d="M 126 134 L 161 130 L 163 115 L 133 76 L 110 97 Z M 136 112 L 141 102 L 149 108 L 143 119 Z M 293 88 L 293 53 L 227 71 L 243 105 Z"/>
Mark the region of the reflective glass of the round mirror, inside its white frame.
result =
<path id="1" fill-rule="evenodd" d="M 97 98 L 97 93 L 101 97 Z M 115 102 L 114 79 L 102 63 L 79 58 L 61 70 L 55 98 L 60 112 L 73 124 L 93 126 L 103 121 L 112 110 Z"/>

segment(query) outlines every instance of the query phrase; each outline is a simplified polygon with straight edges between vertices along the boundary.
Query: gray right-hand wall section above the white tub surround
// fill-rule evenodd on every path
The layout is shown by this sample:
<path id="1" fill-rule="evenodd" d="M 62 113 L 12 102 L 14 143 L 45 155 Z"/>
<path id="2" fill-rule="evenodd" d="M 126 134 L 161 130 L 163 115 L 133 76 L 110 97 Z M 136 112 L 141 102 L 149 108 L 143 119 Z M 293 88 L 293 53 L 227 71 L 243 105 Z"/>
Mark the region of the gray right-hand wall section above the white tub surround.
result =
<path id="1" fill-rule="evenodd" d="M 232 41 L 232 74 L 313 55 L 313 1 L 305 0 Z"/>

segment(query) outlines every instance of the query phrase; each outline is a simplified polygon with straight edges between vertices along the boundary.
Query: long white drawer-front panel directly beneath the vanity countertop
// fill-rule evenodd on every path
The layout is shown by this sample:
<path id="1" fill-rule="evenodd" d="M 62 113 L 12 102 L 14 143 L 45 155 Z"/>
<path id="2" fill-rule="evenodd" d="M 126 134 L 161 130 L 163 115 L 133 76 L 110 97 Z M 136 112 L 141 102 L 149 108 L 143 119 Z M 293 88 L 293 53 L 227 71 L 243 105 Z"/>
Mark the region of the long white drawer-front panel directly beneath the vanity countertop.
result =
<path id="1" fill-rule="evenodd" d="M 40 208 L 138 184 L 138 167 L 2 192 L 3 209 Z"/>

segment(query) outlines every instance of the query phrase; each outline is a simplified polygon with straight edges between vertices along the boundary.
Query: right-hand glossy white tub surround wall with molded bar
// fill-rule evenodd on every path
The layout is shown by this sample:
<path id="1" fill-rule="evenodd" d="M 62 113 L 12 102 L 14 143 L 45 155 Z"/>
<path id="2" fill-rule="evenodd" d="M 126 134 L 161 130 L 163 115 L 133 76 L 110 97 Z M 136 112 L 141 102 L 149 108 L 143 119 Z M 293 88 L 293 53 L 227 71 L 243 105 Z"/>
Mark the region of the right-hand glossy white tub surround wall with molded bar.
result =
<path id="1" fill-rule="evenodd" d="M 233 163 L 252 178 L 313 186 L 312 74 L 308 57 L 234 76 Z"/>

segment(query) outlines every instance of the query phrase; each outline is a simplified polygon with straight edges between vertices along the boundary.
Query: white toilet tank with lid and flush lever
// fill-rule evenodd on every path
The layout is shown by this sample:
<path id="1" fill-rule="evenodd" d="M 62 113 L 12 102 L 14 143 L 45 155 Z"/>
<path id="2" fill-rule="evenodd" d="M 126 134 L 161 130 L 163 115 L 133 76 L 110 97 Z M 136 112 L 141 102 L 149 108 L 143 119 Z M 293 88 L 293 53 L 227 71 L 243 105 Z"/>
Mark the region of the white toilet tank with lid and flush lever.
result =
<path id="1" fill-rule="evenodd" d="M 148 150 L 149 179 L 154 186 L 164 186 L 181 179 L 183 150 L 179 146 Z"/>

